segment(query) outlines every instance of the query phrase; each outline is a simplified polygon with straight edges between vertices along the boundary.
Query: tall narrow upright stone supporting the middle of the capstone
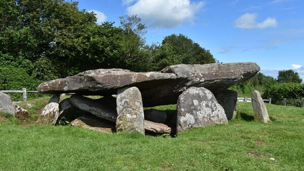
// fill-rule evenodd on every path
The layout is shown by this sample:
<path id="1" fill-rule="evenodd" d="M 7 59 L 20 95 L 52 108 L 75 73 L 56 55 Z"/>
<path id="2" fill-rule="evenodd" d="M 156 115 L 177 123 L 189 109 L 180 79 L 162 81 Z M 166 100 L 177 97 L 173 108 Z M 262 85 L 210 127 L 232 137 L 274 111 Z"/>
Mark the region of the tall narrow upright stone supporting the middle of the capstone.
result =
<path id="1" fill-rule="evenodd" d="M 136 87 L 119 89 L 117 93 L 117 132 L 144 134 L 144 114 L 141 93 Z"/>

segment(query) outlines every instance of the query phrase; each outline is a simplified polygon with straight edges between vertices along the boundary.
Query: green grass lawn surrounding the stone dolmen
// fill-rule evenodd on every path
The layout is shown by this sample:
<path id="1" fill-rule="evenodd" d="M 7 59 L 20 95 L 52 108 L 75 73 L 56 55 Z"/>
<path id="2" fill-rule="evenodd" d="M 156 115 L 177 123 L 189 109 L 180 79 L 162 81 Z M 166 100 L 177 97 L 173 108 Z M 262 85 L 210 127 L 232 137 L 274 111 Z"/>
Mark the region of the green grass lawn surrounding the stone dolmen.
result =
<path id="1" fill-rule="evenodd" d="M 31 100 L 36 106 L 26 109 L 36 119 L 47 101 Z M 251 103 L 238 105 L 229 125 L 176 138 L 39 126 L 1 114 L 0 170 L 304 170 L 304 108 L 267 104 L 273 122 L 262 124 Z"/>

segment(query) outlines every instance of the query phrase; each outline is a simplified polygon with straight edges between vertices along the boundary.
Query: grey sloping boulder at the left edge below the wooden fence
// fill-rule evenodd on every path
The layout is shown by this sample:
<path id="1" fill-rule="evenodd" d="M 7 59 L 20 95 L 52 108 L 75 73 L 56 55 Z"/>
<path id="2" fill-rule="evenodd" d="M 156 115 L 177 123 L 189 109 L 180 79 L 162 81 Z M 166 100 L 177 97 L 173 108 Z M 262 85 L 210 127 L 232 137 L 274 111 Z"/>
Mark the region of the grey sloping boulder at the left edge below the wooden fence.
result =
<path id="1" fill-rule="evenodd" d="M 30 118 L 29 112 L 12 101 L 8 94 L 0 93 L 0 112 L 8 113 L 16 118 Z"/>

